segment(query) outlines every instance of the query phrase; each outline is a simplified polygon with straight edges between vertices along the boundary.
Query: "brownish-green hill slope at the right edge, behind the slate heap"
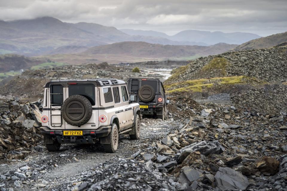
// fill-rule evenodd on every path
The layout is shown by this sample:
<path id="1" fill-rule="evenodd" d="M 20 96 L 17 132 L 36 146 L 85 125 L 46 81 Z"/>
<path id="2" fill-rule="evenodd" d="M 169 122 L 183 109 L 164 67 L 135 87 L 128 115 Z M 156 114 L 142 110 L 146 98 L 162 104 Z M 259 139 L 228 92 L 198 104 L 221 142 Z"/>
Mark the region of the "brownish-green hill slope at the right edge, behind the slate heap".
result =
<path id="1" fill-rule="evenodd" d="M 236 47 L 234 50 L 270 48 L 286 41 L 287 32 L 279 33 L 245 42 Z"/>

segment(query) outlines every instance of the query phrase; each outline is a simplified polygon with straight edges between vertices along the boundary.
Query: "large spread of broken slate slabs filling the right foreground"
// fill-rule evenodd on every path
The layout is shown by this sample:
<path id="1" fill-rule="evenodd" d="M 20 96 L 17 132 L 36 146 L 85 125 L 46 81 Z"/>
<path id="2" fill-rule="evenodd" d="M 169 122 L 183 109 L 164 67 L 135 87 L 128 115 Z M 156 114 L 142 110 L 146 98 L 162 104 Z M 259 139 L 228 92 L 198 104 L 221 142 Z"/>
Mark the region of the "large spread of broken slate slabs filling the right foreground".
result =
<path id="1" fill-rule="evenodd" d="M 190 190 L 287 189 L 286 113 L 202 107 L 186 109 L 192 117 L 132 158 L 150 161 Z"/>

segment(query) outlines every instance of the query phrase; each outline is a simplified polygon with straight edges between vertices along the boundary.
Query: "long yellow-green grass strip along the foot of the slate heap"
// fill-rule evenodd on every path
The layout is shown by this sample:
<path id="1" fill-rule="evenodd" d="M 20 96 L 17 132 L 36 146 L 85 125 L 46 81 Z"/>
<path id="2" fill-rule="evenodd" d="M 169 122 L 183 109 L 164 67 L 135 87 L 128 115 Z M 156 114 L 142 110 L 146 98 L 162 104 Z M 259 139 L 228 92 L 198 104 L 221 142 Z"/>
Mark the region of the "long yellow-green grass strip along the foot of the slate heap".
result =
<path id="1" fill-rule="evenodd" d="M 198 80 L 188 80 L 174 84 L 164 85 L 167 93 L 172 92 L 202 92 L 205 88 L 210 88 L 214 85 L 225 84 L 265 84 L 265 81 L 259 81 L 256 78 L 248 76 L 231 76 L 231 77 L 216 77 L 204 78 Z"/>

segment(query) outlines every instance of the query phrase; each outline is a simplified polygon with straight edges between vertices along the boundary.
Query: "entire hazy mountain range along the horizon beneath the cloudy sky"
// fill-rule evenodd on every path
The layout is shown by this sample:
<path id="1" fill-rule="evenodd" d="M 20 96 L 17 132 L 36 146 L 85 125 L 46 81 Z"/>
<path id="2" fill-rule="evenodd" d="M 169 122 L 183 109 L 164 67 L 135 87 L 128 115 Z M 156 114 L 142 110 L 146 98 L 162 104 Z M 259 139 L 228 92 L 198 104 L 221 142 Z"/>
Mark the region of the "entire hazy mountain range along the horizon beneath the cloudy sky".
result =
<path id="1" fill-rule="evenodd" d="M 50 54 L 59 47 L 77 46 L 88 49 L 123 41 L 206 46 L 219 42 L 242 44 L 254 38 L 259 36 L 251 33 L 197 30 L 186 30 L 174 36 L 168 36 L 156 31 L 118 30 L 115 27 L 95 23 L 66 23 L 52 17 L 0 21 L 0 54 L 16 53 L 25 56 Z"/>

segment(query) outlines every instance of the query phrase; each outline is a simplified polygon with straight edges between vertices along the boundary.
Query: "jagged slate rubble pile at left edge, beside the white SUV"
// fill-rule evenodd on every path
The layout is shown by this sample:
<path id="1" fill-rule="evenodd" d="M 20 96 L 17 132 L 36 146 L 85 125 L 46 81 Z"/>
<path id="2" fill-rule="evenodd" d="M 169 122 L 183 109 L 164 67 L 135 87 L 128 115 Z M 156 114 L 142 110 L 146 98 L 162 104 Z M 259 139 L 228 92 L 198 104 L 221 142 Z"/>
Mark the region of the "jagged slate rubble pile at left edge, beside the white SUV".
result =
<path id="1" fill-rule="evenodd" d="M 18 98 L 0 101 L 0 161 L 24 159 L 42 140 L 42 101 L 21 102 Z"/>

